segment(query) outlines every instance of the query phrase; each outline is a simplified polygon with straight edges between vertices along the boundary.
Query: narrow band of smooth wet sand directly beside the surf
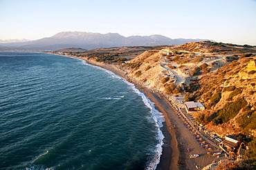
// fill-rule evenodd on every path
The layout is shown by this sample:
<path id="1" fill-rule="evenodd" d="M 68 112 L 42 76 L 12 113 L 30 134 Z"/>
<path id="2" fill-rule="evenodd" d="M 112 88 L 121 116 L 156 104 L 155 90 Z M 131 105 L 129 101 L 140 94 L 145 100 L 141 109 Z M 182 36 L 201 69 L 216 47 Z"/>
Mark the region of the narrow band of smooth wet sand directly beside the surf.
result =
<path id="1" fill-rule="evenodd" d="M 179 162 L 180 151 L 178 148 L 176 132 L 172 128 L 170 128 L 170 127 L 173 127 L 171 123 L 170 114 L 168 114 L 167 112 L 167 110 L 170 109 L 170 108 L 167 108 L 167 106 L 170 107 L 170 105 L 165 101 L 165 99 L 161 98 L 160 95 L 157 94 L 156 92 L 152 92 L 151 90 L 143 87 L 137 82 L 132 81 L 129 77 L 125 76 L 127 72 L 119 70 L 118 68 L 115 68 L 114 65 L 107 65 L 104 63 L 96 62 L 96 61 L 89 61 L 83 57 L 75 57 L 75 56 L 70 56 L 70 57 L 75 59 L 82 59 L 86 61 L 86 63 L 88 63 L 89 65 L 102 67 L 105 70 L 109 70 L 110 72 L 113 72 L 114 74 L 122 78 L 125 78 L 129 83 L 133 83 L 136 86 L 136 88 L 142 91 L 149 98 L 149 100 L 151 100 L 155 104 L 156 109 L 158 109 L 158 111 L 161 111 L 161 113 L 165 118 L 165 122 L 163 122 L 163 127 L 160 128 L 164 136 L 163 146 L 162 146 L 163 151 L 160 157 L 160 162 L 157 164 L 156 169 L 158 170 L 179 169 L 178 162 Z"/>

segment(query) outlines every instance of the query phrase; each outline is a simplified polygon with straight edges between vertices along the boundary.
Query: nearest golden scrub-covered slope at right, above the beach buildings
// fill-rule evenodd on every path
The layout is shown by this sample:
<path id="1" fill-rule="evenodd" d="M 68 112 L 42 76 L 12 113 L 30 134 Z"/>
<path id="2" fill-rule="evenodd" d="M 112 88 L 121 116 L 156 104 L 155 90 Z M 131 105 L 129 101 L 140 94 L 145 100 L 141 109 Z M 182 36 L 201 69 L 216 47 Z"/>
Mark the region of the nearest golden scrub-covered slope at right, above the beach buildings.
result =
<path id="1" fill-rule="evenodd" d="M 256 135 L 256 57 L 243 57 L 199 81 L 194 98 L 206 106 L 202 123 L 219 134 Z"/>

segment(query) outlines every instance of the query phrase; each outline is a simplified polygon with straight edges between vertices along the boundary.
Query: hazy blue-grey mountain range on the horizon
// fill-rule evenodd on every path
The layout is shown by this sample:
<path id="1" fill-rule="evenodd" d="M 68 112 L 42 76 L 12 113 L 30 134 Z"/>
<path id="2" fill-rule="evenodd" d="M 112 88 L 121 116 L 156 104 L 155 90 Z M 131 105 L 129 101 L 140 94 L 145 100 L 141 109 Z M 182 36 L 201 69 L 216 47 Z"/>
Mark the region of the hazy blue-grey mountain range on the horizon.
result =
<path id="1" fill-rule="evenodd" d="M 0 51 L 42 51 L 60 50 L 67 47 L 82 47 L 86 50 L 98 47 L 181 45 L 189 42 L 207 41 L 206 39 L 170 39 L 162 35 L 122 36 L 118 33 L 60 32 L 51 37 L 35 41 L 1 43 Z"/>

